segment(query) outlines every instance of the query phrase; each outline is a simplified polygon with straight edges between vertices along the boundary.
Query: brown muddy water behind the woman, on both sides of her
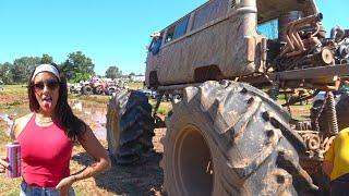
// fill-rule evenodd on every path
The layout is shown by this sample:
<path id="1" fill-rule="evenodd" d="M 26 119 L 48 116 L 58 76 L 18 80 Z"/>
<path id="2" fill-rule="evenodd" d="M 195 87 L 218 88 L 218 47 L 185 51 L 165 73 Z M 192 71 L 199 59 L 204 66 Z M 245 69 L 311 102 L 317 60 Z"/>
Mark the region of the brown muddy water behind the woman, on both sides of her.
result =
<path id="1" fill-rule="evenodd" d="M 85 101 L 85 100 L 69 100 L 69 103 L 76 117 L 82 119 L 95 133 L 98 139 L 106 140 L 107 139 L 107 131 L 106 131 L 106 122 L 107 122 L 107 105 L 103 103 L 95 103 L 93 101 Z M 4 131 L 7 135 L 10 135 L 10 130 L 12 127 L 14 119 L 21 117 L 25 113 L 29 112 L 2 112 L 0 110 L 0 122 L 4 122 Z"/>

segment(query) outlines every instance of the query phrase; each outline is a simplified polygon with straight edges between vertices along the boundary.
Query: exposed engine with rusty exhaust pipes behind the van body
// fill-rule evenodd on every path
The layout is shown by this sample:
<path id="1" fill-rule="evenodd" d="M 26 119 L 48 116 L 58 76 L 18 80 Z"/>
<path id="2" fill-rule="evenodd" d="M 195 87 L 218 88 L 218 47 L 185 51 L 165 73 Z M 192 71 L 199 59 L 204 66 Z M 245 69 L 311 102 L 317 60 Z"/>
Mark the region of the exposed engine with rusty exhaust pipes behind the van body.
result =
<path id="1" fill-rule="evenodd" d="M 269 41 L 268 68 L 281 72 L 349 63 L 349 29 L 336 26 L 326 38 L 321 13 L 285 26 L 284 40 Z"/>

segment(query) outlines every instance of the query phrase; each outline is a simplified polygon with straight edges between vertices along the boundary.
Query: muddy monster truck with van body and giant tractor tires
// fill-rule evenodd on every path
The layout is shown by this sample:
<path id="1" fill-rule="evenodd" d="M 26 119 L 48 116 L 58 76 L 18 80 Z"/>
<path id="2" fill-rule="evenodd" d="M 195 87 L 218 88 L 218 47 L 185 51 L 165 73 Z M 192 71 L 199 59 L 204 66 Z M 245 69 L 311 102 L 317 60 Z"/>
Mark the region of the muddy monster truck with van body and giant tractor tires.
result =
<path id="1" fill-rule="evenodd" d="M 334 27 L 327 37 L 322 19 L 313 0 L 209 0 L 153 35 L 145 84 L 174 95 L 160 162 L 168 195 L 324 193 L 324 152 L 348 126 L 333 91 L 349 75 L 349 32 Z M 278 103 L 300 88 L 314 93 Z M 288 106 L 320 90 L 326 99 L 311 119 L 292 118 Z M 153 148 L 159 103 L 152 111 L 139 91 L 110 100 L 117 163 Z"/>

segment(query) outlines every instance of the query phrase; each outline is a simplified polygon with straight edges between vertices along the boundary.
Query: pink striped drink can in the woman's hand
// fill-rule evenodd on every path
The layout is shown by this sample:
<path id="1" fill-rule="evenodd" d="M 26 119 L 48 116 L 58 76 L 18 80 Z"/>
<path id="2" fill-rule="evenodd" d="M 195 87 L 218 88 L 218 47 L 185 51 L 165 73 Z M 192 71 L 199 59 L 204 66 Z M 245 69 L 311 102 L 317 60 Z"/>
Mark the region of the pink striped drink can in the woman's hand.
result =
<path id="1" fill-rule="evenodd" d="M 7 158 L 9 161 L 9 169 L 7 170 L 7 177 L 21 176 L 21 145 L 19 142 L 9 143 L 5 145 Z"/>

